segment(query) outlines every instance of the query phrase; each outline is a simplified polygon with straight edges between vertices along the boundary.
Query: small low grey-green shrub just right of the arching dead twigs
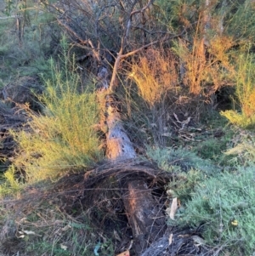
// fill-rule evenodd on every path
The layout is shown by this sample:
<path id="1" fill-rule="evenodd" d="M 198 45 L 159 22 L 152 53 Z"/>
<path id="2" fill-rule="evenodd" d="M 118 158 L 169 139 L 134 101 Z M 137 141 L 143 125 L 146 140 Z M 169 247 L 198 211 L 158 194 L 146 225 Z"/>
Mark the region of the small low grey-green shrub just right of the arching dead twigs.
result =
<path id="1" fill-rule="evenodd" d="M 167 185 L 168 196 L 177 196 L 181 202 L 191 198 L 195 186 L 218 172 L 210 161 L 201 159 L 194 152 L 179 148 L 148 149 L 147 155 L 158 167 L 173 173 L 173 180 Z"/>

